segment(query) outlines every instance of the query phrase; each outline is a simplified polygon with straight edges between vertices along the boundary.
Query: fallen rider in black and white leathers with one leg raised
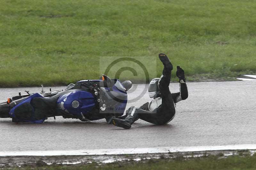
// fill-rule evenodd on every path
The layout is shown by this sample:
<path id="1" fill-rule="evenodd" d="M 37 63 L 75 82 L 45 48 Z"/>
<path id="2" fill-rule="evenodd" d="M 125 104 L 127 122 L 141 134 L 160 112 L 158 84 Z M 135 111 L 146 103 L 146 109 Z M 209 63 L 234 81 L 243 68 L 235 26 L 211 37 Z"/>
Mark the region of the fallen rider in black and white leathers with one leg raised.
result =
<path id="1" fill-rule="evenodd" d="M 164 64 L 163 75 L 160 78 L 154 78 L 148 88 L 149 96 L 154 100 L 145 103 L 140 108 L 130 107 L 126 111 L 125 119 L 113 119 L 113 124 L 124 129 L 130 129 L 133 122 L 138 119 L 156 124 L 164 125 L 170 122 L 175 116 L 175 106 L 180 100 L 188 98 L 188 89 L 186 85 L 185 73 L 177 66 L 176 75 L 180 81 L 180 92 L 171 93 L 169 84 L 171 80 L 172 63 L 165 54 L 159 54 L 159 59 Z"/>

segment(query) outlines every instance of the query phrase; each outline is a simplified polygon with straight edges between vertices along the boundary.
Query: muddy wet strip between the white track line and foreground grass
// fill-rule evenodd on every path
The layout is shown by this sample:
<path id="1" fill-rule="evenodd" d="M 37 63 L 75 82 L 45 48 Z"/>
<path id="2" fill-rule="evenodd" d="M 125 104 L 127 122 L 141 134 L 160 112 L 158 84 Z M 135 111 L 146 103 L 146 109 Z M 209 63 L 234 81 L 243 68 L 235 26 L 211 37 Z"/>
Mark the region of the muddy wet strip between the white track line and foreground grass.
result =
<path id="1" fill-rule="evenodd" d="M 0 168 L 8 167 L 38 167 L 47 165 L 74 165 L 74 164 L 90 164 L 92 162 L 98 164 L 119 162 L 127 163 L 127 161 L 147 161 L 148 159 L 163 158 L 184 158 L 206 157 L 215 155 L 219 157 L 227 157 L 230 155 L 252 155 L 256 150 L 223 150 L 223 151 L 203 151 L 203 152 L 169 152 L 154 154 L 126 154 L 126 155 L 90 155 L 90 156 L 7 156 L 0 157 Z"/>

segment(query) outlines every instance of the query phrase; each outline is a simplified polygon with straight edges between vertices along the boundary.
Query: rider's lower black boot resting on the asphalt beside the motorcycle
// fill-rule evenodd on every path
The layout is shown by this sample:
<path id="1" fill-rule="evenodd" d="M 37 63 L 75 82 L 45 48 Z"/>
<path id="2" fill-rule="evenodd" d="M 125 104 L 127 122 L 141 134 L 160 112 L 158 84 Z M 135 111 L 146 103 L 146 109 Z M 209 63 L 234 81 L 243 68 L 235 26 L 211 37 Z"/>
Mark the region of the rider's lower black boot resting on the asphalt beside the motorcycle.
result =
<path id="1" fill-rule="evenodd" d="M 112 122 L 115 126 L 118 126 L 124 129 L 130 129 L 132 127 L 132 123 L 138 120 L 138 117 L 139 116 L 136 112 L 136 107 L 130 107 L 125 119 L 113 118 Z"/>

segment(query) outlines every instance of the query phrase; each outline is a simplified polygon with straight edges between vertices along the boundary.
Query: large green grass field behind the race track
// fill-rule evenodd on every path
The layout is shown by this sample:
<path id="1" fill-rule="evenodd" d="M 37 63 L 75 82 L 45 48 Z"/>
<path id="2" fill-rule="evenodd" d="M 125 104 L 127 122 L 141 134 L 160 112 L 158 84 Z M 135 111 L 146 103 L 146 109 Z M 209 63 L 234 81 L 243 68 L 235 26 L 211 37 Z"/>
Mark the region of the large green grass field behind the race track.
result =
<path id="1" fill-rule="evenodd" d="M 255 9 L 250 0 L 1 0 L 0 87 L 98 78 L 100 56 L 160 52 L 189 80 L 256 73 Z"/>

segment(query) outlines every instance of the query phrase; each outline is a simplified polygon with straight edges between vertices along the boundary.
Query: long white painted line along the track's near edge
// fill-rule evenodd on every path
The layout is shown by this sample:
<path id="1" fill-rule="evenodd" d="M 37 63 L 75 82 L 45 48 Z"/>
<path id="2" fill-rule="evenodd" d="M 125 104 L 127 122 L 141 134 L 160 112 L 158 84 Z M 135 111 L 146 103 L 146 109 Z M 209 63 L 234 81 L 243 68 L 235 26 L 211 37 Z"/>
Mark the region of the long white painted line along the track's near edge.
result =
<path id="1" fill-rule="evenodd" d="M 22 151 L 0 152 L 0 156 L 59 156 L 59 155 L 118 155 L 168 152 L 199 152 L 217 150 L 255 150 L 256 144 L 223 145 L 223 146 L 190 146 L 190 147 L 161 147 L 161 148 L 124 148 L 124 149 L 95 149 L 69 151 Z"/>

